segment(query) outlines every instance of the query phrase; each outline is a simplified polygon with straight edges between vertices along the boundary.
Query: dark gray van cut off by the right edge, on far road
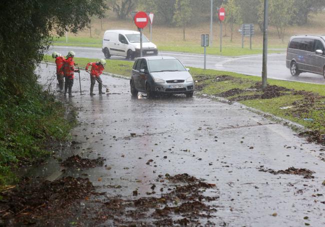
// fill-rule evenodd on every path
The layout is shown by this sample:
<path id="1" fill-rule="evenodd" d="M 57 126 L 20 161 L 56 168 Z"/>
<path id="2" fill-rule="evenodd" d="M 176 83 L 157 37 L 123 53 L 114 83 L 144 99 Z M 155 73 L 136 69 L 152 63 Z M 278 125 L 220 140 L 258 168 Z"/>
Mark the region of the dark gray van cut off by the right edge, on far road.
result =
<path id="1" fill-rule="evenodd" d="M 325 79 L 325 35 L 292 36 L 286 50 L 286 67 L 292 76 L 311 72 Z"/>

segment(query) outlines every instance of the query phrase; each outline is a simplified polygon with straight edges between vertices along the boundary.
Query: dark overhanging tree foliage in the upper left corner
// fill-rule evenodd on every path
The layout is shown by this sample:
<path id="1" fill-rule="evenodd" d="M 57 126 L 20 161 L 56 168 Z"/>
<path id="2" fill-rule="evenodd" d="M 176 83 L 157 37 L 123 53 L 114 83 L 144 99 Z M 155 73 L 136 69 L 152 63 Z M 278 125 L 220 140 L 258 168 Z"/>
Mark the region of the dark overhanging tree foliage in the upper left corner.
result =
<path id="1" fill-rule="evenodd" d="M 102 0 L 6 0 L 0 7 L 0 101 L 21 96 L 36 81 L 35 64 L 47 49 L 52 31 L 63 35 L 83 29 L 102 15 Z"/>

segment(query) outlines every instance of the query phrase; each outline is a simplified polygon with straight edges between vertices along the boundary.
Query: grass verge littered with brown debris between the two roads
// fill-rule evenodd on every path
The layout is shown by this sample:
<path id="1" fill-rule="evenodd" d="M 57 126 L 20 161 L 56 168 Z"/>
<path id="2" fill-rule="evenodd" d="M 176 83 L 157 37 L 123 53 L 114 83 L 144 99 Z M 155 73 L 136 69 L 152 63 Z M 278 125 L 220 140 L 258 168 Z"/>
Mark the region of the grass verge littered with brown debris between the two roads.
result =
<path id="1" fill-rule="evenodd" d="M 44 60 L 54 62 L 50 56 L 44 56 Z M 83 68 L 92 60 L 75 58 Z M 105 72 L 130 76 L 133 62 L 111 59 L 106 62 Z M 306 133 L 310 141 L 325 144 L 324 85 L 268 79 L 268 86 L 263 90 L 260 77 L 193 67 L 190 73 L 197 81 L 198 94 L 224 97 L 230 103 L 236 101 L 298 123 L 311 130 Z"/>

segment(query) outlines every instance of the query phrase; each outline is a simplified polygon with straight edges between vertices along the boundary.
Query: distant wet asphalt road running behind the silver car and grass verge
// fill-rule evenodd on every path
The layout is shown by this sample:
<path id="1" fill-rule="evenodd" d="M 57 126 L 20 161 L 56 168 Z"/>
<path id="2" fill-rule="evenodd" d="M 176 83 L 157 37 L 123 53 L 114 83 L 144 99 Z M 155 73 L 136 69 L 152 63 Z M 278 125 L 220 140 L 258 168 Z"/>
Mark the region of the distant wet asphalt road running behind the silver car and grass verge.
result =
<path id="1" fill-rule="evenodd" d="M 103 58 L 104 55 L 100 48 L 91 47 L 71 47 L 71 46 L 52 46 L 48 53 L 57 51 L 66 54 L 73 50 L 77 57 Z M 202 50 L 203 51 L 203 50 Z M 161 55 L 177 57 L 184 65 L 203 68 L 203 55 L 192 53 L 159 52 Z M 112 56 L 112 59 L 125 59 L 124 57 Z M 239 57 L 224 57 L 216 55 L 206 56 L 206 68 L 237 72 L 246 75 L 261 76 L 262 56 L 249 55 Z M 291 76 L 289 69 L 285 66 L 285 53 L 268 54 L 267 58 L 267 77 L 281 80 L 292 80 L 300 82 L 325 84 L 321 75 L 312 73 L 301 73 L 299 76 Z"/>

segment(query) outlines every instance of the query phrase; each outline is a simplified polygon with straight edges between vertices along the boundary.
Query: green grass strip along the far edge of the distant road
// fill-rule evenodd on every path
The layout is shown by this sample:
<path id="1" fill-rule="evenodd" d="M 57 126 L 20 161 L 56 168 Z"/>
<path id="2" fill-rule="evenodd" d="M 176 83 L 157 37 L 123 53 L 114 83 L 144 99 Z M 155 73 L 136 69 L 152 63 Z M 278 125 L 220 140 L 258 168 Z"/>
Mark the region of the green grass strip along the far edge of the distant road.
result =
<path id="1" fill-rule="evenodd" d="M 68 42 L 65 42 L 65 37 L 55 38 L 53 45 L 57 46 L 82 46 L 82 47 L 102 47 L 101 38 L 89 38 L 89 37 L 69 37 Z M 172 51 L 183 53 L 198 53 L 202 54 L 204 49 L 200 46 L 199 42 L 183 42 L 183 41 L 170 41 L 168 43 L 154 42 L 157 45 L 159 51 Z M 268 53 L 281 53 L 284 52 L 286 45 L 269 45 Z M 275 50 L 274 50 L 275 49 Z M 278 50 L 283 49 L 283 50 Z M 219 45 L 206 47 L 206 54 L 221 55 L 221 56 L 241 56 L 261 54 L 262 46 L 254 46 L 249 49 L 249 44 L 241 48 L 240 43 L 226 43 L 222 45 L 222 52 L 220 52 Z"/>

